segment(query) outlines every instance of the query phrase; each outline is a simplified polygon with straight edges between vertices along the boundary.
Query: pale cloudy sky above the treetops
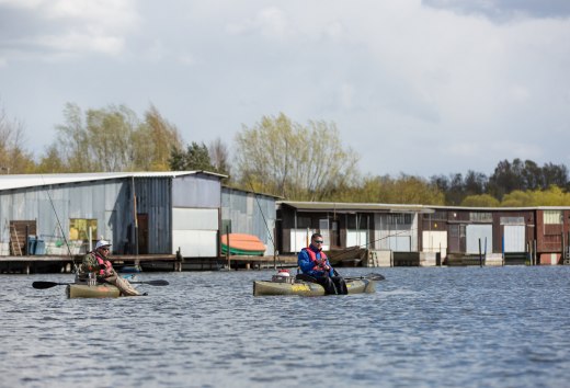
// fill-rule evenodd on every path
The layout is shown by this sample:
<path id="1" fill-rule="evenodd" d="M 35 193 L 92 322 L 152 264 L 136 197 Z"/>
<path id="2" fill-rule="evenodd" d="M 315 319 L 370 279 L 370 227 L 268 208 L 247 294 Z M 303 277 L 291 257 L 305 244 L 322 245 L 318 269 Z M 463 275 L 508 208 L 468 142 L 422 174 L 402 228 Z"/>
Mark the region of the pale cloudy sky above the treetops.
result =
<path id="1" fill-rule="evenodd" d="M 363 174 L 570 167 L 570 1 L 0 0 L 0 109 L 34 155 L 66 103 L 152 104 L 232 155 L 263 116 L 323 121 Z"/>

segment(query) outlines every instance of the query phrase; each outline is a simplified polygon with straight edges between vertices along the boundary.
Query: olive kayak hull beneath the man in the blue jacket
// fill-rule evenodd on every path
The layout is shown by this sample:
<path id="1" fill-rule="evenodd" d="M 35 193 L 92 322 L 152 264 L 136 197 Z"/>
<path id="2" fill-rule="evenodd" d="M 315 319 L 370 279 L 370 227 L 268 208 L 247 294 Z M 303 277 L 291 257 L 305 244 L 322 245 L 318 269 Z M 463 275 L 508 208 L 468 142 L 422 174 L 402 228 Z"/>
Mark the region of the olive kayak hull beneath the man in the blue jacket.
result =
<path id="1" fill-rule="evenodd" d="M 376 292 L 374 282 L 366 278 L 346 279 L 346 288 L 349 289 L 349 295 Z M 324 295 L 324 288 L 320 284 L 303 281 L 296 281 L 295 283 L 253 282 L 253 296 L 270 295 L 322 296 Z"/>

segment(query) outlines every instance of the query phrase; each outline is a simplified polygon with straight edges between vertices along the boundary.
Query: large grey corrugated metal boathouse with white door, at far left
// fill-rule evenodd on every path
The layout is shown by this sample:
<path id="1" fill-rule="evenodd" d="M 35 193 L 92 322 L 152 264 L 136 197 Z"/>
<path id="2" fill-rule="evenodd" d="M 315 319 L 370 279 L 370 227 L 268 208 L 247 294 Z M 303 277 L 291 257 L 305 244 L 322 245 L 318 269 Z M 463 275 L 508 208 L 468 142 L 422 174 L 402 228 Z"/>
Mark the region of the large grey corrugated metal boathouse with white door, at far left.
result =
<path id="1" fill-rule="evenodd" d="M 220 180 L 204 171 L 0 175 L 0 256 L 219 254 Z"/>

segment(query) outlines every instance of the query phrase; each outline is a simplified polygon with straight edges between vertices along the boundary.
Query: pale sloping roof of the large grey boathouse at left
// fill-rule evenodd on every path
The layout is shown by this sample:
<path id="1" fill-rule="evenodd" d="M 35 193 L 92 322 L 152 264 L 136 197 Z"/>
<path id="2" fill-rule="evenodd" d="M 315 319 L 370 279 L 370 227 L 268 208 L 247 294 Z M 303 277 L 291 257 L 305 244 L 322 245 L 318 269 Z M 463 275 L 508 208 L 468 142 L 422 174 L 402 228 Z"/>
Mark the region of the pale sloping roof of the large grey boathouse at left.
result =
<path id="1" fill-rule="evenodd" d="M 78 182 L 92 182 L 111 179 L 124 178 L 176 178 L 204 173 L 207 175 L 226 178 L 208 171 L 161 171 L 161 172 L 84 172 L 84 173 L 61 173 L 61 174 L 21 174 L 21 175 L 0 175 L 0 191 L 24 187 L 45 186 L 53 184 L 66 184 Z"/>

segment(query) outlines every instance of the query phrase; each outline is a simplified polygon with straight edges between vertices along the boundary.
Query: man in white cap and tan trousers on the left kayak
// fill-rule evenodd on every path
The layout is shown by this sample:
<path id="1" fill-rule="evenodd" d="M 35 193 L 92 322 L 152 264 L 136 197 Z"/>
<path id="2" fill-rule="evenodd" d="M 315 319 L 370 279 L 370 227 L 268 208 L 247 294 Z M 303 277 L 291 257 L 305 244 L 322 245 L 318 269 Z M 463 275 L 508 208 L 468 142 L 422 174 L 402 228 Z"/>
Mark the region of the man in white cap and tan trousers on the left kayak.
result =
<path id="1" fill-rule="evenodd" d="M 95 272 L 98 279 L 111 283 L 121 289 L 122 295 L 136 296 L 140 293 L 128 283 L 126 278 L 117 275 L 113 269 L 113 264 L 107 260 L 111 250 L 111 243 L 101 238 L 92 252 L 89 252 L 83 258 L 83 263 L 80 266 L 81 272 Z"/>

